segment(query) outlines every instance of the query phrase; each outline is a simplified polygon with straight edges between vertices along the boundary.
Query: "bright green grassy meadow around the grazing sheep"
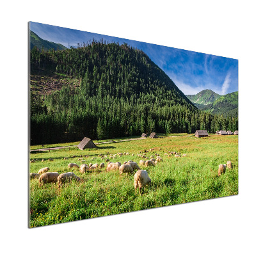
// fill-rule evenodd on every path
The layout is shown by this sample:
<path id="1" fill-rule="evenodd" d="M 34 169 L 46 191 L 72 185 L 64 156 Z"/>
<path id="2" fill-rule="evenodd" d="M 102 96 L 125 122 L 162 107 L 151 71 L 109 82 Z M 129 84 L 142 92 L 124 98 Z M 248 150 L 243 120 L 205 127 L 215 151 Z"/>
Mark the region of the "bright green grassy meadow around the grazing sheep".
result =
<path id="1" fill-rule="evenodd" d="M 84 179 L 84 182 L 64 184 L 58 192 L 56 184 L 38 186 L 38 180 L 30 181 L 30 227 L 51 225 L 68 221 L 96 218 L 122 212 L 139 211 L 166 205 L 183 204 L 209 198 L 238 194 L 238 137 L 218 136 L 195 138 L 170 134 L 160 139 L 145 139 L 123 141 L 111 144 L 111 147 L 99 145 L 98 148 L 79 150 L 53 150 L 31 154 L 31 159 L 38 159 L 30 164 L 30 172 L 38 172 L 48 166 L 49 172 L 74 172 Z M 77 145 L 77 144 L 76 144 Z M 143 193 L 135 195 L 134 175 L 122 175 L 118 171 L 79 173 L 70 170 L 68 163 L 81 164 L 77 159 L 81 155 L 86 163 L 102 163 L 101 154 L 116 154 L 129 152 L 129 156 L 117 157 L 112 161 L 133 160 L 139 163 L 141 157 L 136 154 L 140 150 L 154 148 L 154 153 L 160 154 L 163 162 L 157 166 L 143 168 L 147 170 L 151 186 L 142 189 Z M 161 148 L 161 150 L 159 150 Z M 166 156 L 165 152 L 178 151 L 186 157 L 175 158 Z M 134 154 L 134 157 L 131 156 Z M 76 155 L 75 158 L 63 160 L 63 157 Z M 147 153 L 150 157 L 152 152 Z M 51 157 L 54 161 L 41 162 Z M 232 161 L 232 170 L 227 170 L 218 177 L 218 165 Z M 142 168 L 142 167 L 141 167 Z"/>

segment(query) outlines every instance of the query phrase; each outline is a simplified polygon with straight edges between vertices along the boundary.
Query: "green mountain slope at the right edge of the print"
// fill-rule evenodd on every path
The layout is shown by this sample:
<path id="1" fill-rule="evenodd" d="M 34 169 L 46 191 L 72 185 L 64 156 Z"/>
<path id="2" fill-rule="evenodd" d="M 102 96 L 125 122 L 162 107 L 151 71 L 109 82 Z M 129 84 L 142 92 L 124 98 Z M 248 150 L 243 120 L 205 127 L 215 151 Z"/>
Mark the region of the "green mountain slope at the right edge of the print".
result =
<path id="1" fill-rule="evenodd" d="M 238 116 L 238 92 L 221 96 L 219 99 L 205 106 L 202 111 L 225 116 Z"/>

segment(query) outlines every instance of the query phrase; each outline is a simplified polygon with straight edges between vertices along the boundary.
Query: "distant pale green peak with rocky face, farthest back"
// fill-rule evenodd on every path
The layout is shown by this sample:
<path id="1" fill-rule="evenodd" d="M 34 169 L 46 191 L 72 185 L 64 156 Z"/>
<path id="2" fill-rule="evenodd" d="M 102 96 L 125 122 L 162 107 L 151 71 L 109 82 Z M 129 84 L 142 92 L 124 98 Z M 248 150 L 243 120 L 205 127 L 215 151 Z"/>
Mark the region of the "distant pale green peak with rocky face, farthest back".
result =
<path id="1" fill-rule="evenodd" d="M 212 90 L 202 90 L 196 95 L 186 95 L 186 97 L 198 107 L 199 105 L 211 104 L 214 100 L 219 99 L 221 95 Z M 199 108 L 202 108 L 202 106 L 199 106 Z"/>

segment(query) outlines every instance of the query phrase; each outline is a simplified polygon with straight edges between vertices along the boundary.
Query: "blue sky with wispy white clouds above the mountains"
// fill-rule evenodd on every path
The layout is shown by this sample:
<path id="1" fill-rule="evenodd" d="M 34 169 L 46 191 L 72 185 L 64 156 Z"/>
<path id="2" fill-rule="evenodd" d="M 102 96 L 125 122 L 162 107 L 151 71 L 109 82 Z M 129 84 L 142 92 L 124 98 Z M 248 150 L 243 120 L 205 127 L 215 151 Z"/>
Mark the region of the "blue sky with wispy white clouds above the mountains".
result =
<path id="1" fill-rule="evenodd" d="M 66 47 L 86 43 L 92 38 L 125 42 L 145 52 L 186 95 L 205 89 L 220 95 L 238 91 L 238 60 L 235 59 L 36 22 L 30 22 L 30 29 L 40 38 Z"/>

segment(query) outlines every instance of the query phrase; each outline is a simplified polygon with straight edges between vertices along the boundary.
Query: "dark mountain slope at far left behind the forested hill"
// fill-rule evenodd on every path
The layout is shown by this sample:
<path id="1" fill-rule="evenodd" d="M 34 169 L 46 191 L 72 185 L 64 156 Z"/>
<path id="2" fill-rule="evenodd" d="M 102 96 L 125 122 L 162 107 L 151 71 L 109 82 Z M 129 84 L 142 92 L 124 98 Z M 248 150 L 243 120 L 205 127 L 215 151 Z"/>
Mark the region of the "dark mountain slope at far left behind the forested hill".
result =
<path id="1" fill-rule="evenodd" d="M 56 44 L 56 43 L 44 40 L 40 38 L 38 35 L 36 35 L 36 33 L 34 33 L 33 31 L 30 31 L 30 49 L 32 50 L 35 46 L 38 47 L 38 49 L 40 50 L 44 47 L 45 51 L 50 50 L 52 48 L 55 51 L 58 49 L 60 50 L 67 49 L 67 47 L 65 47 L 62 44 Z"/>

